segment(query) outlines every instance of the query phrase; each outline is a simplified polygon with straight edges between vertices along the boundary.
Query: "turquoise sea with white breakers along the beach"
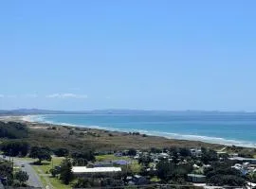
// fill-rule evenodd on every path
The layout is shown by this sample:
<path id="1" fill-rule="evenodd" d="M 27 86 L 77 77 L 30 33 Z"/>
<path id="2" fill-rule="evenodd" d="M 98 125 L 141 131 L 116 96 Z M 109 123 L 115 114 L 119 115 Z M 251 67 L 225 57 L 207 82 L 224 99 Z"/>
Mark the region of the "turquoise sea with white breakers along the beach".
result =
<path id="1" fill-rule="evenodd" d="M 255 114 L 36 115 L 33 121 L 256 147 Z"/>

